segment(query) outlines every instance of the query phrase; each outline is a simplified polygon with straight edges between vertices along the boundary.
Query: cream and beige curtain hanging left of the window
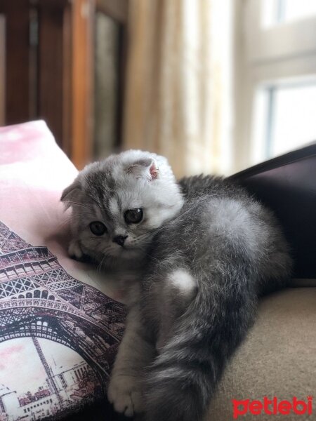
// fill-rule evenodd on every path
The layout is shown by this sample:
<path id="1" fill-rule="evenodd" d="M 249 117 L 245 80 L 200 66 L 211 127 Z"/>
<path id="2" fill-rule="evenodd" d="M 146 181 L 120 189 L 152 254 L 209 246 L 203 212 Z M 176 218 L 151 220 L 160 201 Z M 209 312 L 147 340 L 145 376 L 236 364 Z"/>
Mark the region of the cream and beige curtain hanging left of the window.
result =
<path id="1" fill-rule="evenodd" d="M 231 0 L 131 0 L 124 148 L 229 173 Z"/>

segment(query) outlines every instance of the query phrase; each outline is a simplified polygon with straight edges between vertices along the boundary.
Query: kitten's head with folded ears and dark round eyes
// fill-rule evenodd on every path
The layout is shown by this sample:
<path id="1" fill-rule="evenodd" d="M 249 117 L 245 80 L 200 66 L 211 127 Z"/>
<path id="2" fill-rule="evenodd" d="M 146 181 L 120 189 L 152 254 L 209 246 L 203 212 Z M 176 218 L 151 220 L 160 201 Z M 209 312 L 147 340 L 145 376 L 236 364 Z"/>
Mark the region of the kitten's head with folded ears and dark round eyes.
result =
<path id="1" fill-rule="evenodd" d="M 166 159 L 138 150 L 86 166 L 61 201 L 72 208 L 73 254 L 107 266 L 143 258 L 157 229 L 183 206 Z"/>

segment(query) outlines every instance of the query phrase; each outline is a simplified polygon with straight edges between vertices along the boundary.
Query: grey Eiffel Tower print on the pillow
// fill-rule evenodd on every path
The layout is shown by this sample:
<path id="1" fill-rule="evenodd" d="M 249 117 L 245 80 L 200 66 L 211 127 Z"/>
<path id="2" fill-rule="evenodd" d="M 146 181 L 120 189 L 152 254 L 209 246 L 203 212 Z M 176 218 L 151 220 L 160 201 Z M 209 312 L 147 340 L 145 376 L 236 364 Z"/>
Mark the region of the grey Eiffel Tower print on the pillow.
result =
<path id="1" fill-rule="evenodd" d="M 58 390 L 67 382 L 65 375 L 57 382 L 40 341 L 50 340 L 79 354 L 82 367 L 73 368 L 78 381 L 79 375 L 90 370 L 104 394 L 125 316 L 123 305 L 72 278 L 46 247 L 27 244 L 0 222 L 0 345 L 17 338 L 32 340 L 46 372 L 47 392 L 45 387 L 38 392 L 44 403 L 51 405 L 47 396 L 55 396 L 55 407 L 65 408 L 67 401 Z M 31 410 L 19 408 L 25 416 L 8 413 L 8 395 L 13 392 L 1 397 L 1 387 L 6 390 L 4 381 L 0 377 L 0 420 L 41 419 L 34 417 L 32 409 L 39 404 L 32 406 L 27 397 L 20 399 L 20 406 L 27 403 Z"/>

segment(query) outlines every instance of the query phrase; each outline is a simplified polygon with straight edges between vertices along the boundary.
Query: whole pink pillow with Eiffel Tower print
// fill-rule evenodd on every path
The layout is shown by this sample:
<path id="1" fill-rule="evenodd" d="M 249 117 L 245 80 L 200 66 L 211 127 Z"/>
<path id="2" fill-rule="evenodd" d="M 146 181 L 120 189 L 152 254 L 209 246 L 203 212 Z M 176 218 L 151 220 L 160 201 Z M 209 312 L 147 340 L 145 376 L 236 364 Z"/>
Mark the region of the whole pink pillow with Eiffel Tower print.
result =
<path id="1" fill-rule="evenodd" d="M 0 128 L 0 163 L 0 419 L 59 419 L 104 399 L 125 307 L 67 256 L 77 170 L 46 123 Z"/>

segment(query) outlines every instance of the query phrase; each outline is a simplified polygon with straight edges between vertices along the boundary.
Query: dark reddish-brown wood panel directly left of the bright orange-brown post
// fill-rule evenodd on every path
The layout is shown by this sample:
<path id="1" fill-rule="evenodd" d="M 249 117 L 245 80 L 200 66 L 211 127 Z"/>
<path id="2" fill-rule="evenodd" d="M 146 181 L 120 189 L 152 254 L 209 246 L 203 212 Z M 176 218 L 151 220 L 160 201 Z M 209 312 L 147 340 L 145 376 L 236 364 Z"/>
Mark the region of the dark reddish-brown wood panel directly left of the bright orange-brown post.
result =
<path id="1" fill-rule="evenodd" d="M 68 155 L 72 149 L 72 3 L 40 0 L 39 116 Z"/>

